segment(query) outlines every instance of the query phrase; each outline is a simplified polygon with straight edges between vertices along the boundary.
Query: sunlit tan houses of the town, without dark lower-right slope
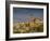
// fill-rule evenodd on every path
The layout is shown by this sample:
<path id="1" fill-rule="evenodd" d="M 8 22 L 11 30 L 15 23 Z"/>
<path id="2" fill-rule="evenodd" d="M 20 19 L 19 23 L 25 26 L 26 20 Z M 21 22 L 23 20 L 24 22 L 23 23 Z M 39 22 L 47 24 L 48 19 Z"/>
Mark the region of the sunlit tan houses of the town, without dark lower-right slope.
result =
<path id="1" fill-rule="evenodd" d="M 18 30 L 21 32 L 26 32 L 29 29 L 39 27 L 42 24 L 43 24 L 42 18 L 30 18 L 28 22 L 16 23 L 16 25 L 13 28 L 14 28 L 14 31 Z"/>

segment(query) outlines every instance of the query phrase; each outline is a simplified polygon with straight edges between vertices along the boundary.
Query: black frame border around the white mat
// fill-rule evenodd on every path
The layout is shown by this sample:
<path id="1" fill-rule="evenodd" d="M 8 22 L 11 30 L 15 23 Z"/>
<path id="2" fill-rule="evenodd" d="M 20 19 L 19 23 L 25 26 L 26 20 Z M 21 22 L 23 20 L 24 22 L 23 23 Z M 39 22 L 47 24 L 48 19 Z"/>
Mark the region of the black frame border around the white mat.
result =
<path id="1" fill-rule="evenodd" d="M 47 36 L 40 36 L 40 37 L 26 37 L 26 38 L 9 38 L 10 28 L 10 4 L 11 3 L 26 3 L 26 4 L 39 4 L 39 5 L 47 5 Z M 49 38 L 49 3 L 45 2 L 26 2 L 26 1 L 5 1 L 5 40 L 26 40 L 26 39 L 42 39 L 42 38 Z"/>

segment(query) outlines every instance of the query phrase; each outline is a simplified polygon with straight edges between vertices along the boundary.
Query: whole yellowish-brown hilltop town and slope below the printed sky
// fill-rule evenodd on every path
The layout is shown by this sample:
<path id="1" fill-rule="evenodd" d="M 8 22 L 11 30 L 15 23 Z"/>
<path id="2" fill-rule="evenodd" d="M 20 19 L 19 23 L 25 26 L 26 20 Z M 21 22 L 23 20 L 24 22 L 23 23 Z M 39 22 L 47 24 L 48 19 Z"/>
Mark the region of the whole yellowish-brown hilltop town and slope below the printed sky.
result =
<path id="1" fill-rule="evenodd" d="M 13 33 L 42 32 L 43 19 L 39 17 L 30 17 L 27 22 L 17 22 L 13 26 Z"/>

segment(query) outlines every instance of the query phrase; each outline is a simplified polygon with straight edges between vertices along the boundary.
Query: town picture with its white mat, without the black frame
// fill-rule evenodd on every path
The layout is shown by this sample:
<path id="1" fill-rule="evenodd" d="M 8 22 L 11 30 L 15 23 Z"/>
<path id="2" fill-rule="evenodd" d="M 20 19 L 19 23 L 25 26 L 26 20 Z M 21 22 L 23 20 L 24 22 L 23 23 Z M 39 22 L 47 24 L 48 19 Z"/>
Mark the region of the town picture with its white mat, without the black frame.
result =
<path id="1" fill-rule="evenodd" d="M 45 36 L 47 33 L 46 11 L 46 5 L 10 4 L 10 35 L 18 38 Z"/>

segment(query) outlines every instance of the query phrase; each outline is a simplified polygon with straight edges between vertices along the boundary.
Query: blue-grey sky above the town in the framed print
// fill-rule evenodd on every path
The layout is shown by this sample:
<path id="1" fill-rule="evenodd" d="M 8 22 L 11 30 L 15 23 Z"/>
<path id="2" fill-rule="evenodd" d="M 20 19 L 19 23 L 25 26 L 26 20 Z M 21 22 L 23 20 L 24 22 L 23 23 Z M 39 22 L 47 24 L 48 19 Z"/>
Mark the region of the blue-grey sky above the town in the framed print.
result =
<path id="1" fill-rule="evenodd" d="M 13 23 L 26 22 L 30 16 L 43 18 L 43 9 L 13 8 Z"/>

